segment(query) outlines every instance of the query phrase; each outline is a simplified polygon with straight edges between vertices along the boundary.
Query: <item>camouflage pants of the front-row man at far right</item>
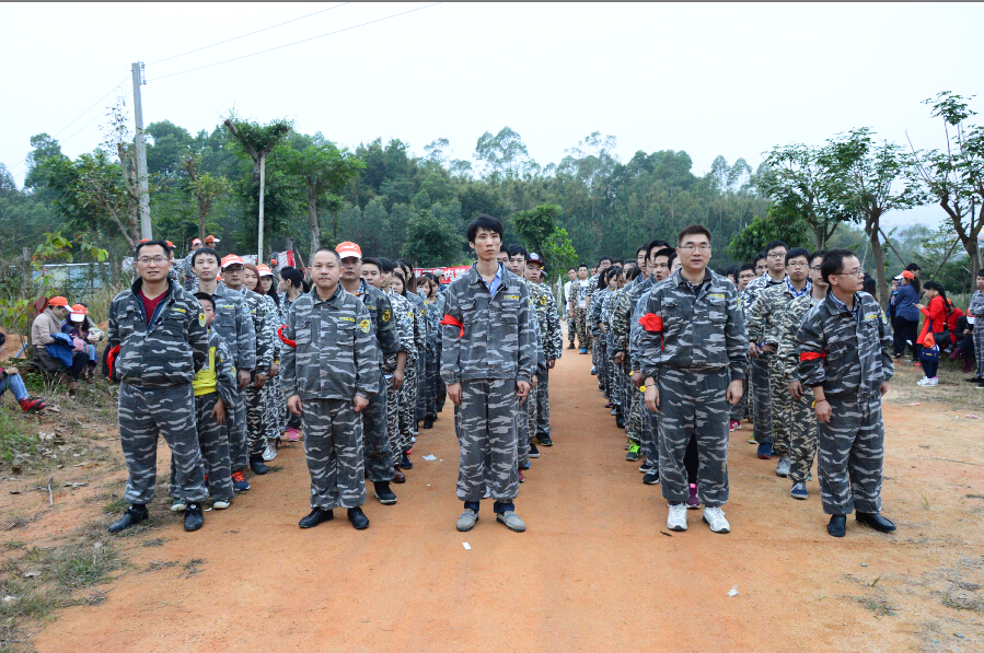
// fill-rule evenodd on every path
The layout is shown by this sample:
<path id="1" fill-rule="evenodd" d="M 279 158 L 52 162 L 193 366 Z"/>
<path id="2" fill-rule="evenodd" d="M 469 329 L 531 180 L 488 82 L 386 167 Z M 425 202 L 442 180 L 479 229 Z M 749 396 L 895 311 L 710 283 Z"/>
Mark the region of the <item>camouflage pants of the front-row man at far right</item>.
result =
<path id="1" fill-rule="evenodd" d="M 884 423 L 881 397 L 827 395 L 831 421 L 817 424 L 820 501 L 829 515 L 881 512 Z"/>

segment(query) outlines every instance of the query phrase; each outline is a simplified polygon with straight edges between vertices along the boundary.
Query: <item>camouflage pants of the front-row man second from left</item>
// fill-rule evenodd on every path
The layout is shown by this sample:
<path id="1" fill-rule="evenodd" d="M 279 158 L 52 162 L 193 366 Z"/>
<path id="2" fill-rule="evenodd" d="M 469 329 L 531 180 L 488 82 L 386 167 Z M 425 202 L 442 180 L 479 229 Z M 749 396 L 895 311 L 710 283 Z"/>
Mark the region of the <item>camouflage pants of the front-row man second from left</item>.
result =
<path id="1" fill-rule="evenodd" d="M 348 399 L 304 399 L 301 423 L 311 474 L 311 508 L 366 503 L 362 420 Z"/>

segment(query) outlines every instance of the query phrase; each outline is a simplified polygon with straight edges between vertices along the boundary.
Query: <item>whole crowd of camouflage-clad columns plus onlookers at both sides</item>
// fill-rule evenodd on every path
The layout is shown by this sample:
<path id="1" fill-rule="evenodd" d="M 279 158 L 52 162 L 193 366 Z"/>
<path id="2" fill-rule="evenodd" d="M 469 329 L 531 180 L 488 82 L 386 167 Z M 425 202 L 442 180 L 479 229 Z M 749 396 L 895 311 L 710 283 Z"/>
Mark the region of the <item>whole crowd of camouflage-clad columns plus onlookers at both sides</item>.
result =
<path id="1" fill-rule="evenodd" d="M 626 432 L 626 460 L 641 459 L 643 482 L 661 485 L 670 529 L 686 530 L 687 510 L 703 508 L 713 532 L 731 530 L 729 433 L 745 418 L 755 455 L 777 458 L 794 499 L 808 497 L 817 459 L 832 536 L 845 535 L 852 513 L 895 529 L 881 514 L 881 396 L 901 352 L 853 252 L 776 241 L 755 261 L 715 272 L 710 232 L 692 225 L 675 243 L 640 246 L 635 259 L 602 257 L 593 276 L 584 264 L 568 270 L 558 306 L 542 257 L 505 245 L 501 222 L 478 217 L 466 235 L 477 260 L 448 284 L 408 261 L 363 257 L 349 242 L 314 252 L 306 275 L 220 257 L 211 237 L 180 260 L 166 241 L 141 242 L 136 280 L 109 308 L 106 359 L 120 384 L 129 503 L 109 530 L 149 517 L 160 435 L 172 453 L 172 510 L 187 530 L 202 526 L 206 502 L 228 509 L 248 491 L 244 473 L 254 482 L 265 475 L 282 439 L 303 440 L 311 477 L 299 526 L 341 508 L 367 528 L 369 485 L 380 504 L 397 502 L 392 485 L 407 480 L 418 429 L 432 428 L 450 399 L 461 452 L 456 528 L 475 527 L 490 499 L 496 521 L 523 532 L 523 473 L 554 444 L 558 308 L 568 349 L 592 355 L 605 408 Z M 973 322 L 984 315 L 984 271 L 977 284 L 961 314 L 962 347 L 982 331 Z M 907 306 L 907 285 L 893 306 Z M 936 296 L 924 307 L 933 319 Z M 73 380 L 96 364 L 104 337 L 84 308 L 53 298 L 35 323 L 38 353 L 53 359 L 43 364 Z M 906 328 L 906 315 L 891 318 Z M 923 350 L 950 337 L 927 324 Z M 73 352 L 59 361 L 46 340 L 62 333 Z"/>

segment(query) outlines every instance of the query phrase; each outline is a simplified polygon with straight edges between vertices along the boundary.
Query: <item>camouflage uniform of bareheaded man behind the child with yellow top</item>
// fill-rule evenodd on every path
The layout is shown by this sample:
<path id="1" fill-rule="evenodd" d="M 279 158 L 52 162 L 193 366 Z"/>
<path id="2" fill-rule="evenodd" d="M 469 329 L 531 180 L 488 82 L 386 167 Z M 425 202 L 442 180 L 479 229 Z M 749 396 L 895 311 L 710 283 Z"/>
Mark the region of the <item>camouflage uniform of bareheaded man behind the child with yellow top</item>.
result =
<path id="1" fill-rule="evenodd" d="M 256 362 L 256 331 L 253 328 L 250 306 L 242 293 L 219 283 L 212 292 L 216 302 L 216 318 L 211 328 L 216 331 L 229 351 L 235 369 L 253 371 Z M 234 401 L 225 407 L 225 430 L 229 434 L 229 455 L 232 458 L 232 470 L 246 468 L 246 404 L 243 390 L 236 384 Z"/>

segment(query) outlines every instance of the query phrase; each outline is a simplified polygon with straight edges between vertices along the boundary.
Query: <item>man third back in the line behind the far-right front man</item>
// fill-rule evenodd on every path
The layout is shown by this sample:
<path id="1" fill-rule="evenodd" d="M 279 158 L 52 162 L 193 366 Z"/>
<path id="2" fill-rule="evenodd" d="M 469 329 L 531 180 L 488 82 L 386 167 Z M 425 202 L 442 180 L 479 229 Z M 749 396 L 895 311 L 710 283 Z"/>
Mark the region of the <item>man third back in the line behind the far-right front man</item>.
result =
<path id="1" fill-rule="evenodd" d="M 773 285 L 759 295 L 759 300 L 749 310 L 749 348 L 752 354 L 765 352 L 768 357 L 768 387 L 772 406 L 772 453 L 779 456 L 776 476 L 789 476 L 789 428 L 792 416 L 792 396 L 786 387 L 786 376 L 776 360 L 778 349 L 778 326 L 783 323 L 783 314 L 789 303 L 797 298 L 810 293 L 808 278 L 809 252 L 802 247 L 794 247 L 786 254 L 786 281 Z"/>

